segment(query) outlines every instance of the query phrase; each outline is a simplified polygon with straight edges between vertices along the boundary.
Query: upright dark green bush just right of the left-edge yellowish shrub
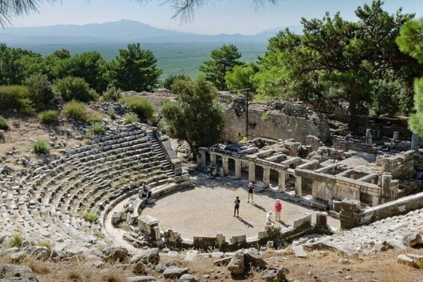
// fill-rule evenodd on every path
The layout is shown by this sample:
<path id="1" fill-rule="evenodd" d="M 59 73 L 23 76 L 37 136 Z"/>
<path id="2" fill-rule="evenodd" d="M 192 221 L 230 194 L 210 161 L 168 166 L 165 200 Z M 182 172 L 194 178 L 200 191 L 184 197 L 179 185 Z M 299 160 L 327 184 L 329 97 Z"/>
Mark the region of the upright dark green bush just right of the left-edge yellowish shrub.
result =
<path id="1" fill-rule="evenodd" d="M 29 89 L 29 99 L 37 108 L 45 108 L 47 105 L 52 104 L 55 97 L 47 75 L 32 74 L 25 80 L 24 84 Z"/>

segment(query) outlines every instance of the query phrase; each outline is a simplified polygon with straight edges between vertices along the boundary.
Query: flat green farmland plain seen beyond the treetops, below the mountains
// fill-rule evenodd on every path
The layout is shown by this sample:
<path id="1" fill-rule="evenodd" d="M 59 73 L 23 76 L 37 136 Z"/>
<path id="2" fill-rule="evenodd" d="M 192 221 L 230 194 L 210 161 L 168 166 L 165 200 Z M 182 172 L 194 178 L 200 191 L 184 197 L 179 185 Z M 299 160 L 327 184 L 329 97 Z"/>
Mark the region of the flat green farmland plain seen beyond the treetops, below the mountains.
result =
<path id="1" fill-rule="evenodd" d="M 157 65 L 163 69 L 161 78 L 169 74 L 184 73 L 191 77 L 200 72 L 198 66 L 210 58 L 212 49 L 219 48 L 223 43 L 141 43 L 141 48 L 150 49 L 157 58 Z M 263 56 L 266 51 L 266 42 L 263 43 L 237 43 L 242 53 L 242 60 L 254 61 L 257 56 Z M 20 47 L 38 52 L 45 56 L 57 49 L 67 49 L 71 54 L 98 51 L 107 61 L 112 60 L 119 54 L 119 49 L 126 48 L 125 43 L 92 43 L 92 44 L 46 44 L 46 45 L 19 45 Z"/>

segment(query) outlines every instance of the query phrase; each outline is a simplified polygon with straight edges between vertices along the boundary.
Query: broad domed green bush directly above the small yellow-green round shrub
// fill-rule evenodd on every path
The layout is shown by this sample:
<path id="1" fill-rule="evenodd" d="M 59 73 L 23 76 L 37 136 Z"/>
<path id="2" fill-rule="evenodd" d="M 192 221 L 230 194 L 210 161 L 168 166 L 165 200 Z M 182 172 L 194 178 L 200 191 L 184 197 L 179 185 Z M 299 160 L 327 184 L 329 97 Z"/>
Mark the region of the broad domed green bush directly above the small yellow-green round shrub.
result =
<path id="1" fill-rule="evenodd" d="M 88 102 L 98 99 L 98 94 L 81 77 L 67 76 L 54 83 L 55 90 L 62 96 L 63 101 L 78 100 Z"/>

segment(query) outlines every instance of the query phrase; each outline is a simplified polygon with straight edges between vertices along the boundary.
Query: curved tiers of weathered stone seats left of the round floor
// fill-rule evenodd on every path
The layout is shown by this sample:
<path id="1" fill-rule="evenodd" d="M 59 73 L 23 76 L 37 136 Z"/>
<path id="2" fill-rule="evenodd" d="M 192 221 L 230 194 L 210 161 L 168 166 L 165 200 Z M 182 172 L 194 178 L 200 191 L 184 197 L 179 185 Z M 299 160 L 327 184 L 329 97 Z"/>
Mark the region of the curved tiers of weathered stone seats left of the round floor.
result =
<path id="1" fill-rule="evenodd" d="M 85 211 L 106 209 L 141 181 L 154 187 L 174 177 L 154 132 L 141 124 L 112 128 L 91 145 L 52 158 L 31 172 L 0 179 L 1 234 L 89 247 L 102 227 L 85 220 Z"/>

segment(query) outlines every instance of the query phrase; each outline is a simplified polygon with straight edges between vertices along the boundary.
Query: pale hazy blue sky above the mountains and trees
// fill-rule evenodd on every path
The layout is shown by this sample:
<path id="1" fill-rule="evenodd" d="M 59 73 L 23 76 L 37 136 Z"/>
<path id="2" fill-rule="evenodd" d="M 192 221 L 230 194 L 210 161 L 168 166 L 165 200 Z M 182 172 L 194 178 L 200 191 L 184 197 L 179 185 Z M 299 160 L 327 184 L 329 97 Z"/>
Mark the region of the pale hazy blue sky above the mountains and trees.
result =
<path id="1" fill-rule="evenodd" d="M 385 10 L 423 15 L 422 0 L 385 0 Z M 326 11 L 340 11 L 346 19 L 355 19 L 354 10 L 371 0 L 284 0 L 278 6 L 267 5 L 255 10 L 251 0 L 216 0 L 196 11 L 194 21 L 180 24 L 171 19 L 169 5 L 147 3 L 140 6 L 131 0 L 63 0 L 62 3 L 41 4 L 39 13 L 12 19 L 12 26 L 40 26 L 55 24 L 85 24 L 118 21 L 122 18 L 149 25 L 205 34 L 254 34 L 268 28 L 299 24 L 301 17 L 321 18 Z"/>

